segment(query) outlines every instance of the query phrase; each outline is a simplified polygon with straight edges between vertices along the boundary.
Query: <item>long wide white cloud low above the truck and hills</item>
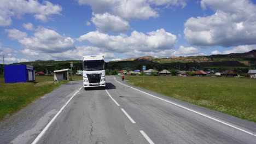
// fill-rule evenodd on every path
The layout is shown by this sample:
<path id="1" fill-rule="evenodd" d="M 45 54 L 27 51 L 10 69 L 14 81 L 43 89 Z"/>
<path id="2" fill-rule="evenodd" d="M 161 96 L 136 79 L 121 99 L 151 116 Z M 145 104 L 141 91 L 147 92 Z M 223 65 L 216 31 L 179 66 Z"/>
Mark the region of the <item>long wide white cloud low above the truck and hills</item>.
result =
<path id="1" fill-rule="evenodd" d="M 108 51 L 126 52 L 137 50 L 141 52 L 159 52 L 173 49 L 177 37 L 166 32 L 165 29 L 158 29 L 147 34 L 133 31 L 130 37 L 127 35 L 108 35 L 96 31 L 81 35 L 77 40 L 89 41 L 92 45 L 103 47 Z"/>

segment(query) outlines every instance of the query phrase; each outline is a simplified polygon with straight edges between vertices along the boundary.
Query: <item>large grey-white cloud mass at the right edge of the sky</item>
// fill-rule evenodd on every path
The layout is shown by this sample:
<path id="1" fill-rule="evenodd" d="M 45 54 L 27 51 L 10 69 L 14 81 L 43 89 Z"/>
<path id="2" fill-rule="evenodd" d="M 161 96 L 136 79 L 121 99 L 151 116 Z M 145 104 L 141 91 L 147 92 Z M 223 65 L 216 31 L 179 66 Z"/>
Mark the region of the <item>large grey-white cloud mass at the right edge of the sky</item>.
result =
<path id="1" fill-rule="evenodd" d="M 197 46 L 256 44 L 256 5 L 249 0 L 202 0 L 203 9 L 216 11 L 206 17 L 191 17 L 184 26 L 185 39 Z"/>

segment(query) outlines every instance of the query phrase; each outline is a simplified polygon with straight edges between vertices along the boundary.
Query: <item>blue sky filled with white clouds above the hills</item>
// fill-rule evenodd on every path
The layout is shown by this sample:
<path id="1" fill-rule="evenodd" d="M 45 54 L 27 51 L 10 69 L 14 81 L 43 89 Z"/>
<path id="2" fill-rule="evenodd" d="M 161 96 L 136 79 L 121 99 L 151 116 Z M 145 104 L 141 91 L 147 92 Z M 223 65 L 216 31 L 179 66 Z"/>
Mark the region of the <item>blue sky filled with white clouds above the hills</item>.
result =
<path id="1" fill-rule="evenodd" d="M 2 0 L 0 54 L 5 62 L 107 61 L 256 49 L 251 0 Z M 0 61 L 2 63 L 2 59 Z"/>

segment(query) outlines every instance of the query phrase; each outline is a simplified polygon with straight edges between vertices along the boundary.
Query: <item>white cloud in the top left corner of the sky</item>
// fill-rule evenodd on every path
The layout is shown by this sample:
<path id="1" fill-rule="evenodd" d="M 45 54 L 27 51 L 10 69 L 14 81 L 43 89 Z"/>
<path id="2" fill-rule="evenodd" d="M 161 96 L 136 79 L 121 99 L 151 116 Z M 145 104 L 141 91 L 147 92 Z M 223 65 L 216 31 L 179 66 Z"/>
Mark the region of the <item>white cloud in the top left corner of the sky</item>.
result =
<path id="1" fill-rule="evenodd" d="M 11 17 L 21 18 L 25 14 L 34 14 L 34 17 L 43 22 L 48 21 L 48 17 L 53 14 L 60 14 L 60 5 L 54 5 L 49 1 L 42 4 L 34 0 L 1 0 L 0 1 L 0 26 L 9 26 Z"/>

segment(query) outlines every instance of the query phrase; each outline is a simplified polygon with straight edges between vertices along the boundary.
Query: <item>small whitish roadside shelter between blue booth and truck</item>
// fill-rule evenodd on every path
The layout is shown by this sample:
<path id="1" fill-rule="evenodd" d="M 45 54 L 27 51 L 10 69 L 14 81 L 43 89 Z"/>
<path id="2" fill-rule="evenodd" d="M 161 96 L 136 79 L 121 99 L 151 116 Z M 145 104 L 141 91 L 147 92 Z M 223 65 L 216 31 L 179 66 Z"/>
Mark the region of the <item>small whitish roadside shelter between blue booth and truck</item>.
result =
<path id="1" fill-rule="evenodd" d="M 54 70 L 54 81 L 69 80 L 69 75 L 71 75 L 71 73 L 71 69 Z"/>

